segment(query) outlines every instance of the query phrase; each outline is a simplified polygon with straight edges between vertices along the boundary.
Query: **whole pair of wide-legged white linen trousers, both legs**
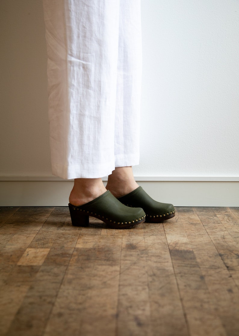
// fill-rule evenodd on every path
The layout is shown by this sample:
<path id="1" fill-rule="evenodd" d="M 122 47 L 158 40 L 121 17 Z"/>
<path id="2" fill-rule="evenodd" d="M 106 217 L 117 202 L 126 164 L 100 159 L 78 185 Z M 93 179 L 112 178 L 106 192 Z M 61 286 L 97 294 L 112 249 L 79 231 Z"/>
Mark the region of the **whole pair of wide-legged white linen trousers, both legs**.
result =
<path id="1" fill-rule="evenodd" d="M 52 173 L 139 164 L 140 0 L 43 0 Z"/>

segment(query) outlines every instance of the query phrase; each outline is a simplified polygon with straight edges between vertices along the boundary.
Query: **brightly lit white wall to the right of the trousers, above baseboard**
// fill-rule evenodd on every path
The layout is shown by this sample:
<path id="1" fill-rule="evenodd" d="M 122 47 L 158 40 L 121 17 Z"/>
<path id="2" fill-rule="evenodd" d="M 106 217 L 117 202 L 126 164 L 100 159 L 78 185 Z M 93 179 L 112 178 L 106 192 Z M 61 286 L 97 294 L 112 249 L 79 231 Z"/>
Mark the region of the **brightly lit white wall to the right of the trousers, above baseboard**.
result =
<path id="1" fill-rule="evenodd" d="M 239 2 L 143 0 L 142 28 L 136 175 L 238 176 Z"/>

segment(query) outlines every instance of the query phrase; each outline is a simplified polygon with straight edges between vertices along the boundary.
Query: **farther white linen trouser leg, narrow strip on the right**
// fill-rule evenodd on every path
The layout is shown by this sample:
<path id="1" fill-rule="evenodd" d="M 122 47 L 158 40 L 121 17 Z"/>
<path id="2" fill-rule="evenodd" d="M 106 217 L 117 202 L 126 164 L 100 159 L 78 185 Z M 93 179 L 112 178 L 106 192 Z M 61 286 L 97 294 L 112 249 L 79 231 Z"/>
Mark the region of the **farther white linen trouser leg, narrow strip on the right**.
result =
<path id="1" fill-rule="evenodd" d="M 139 164 L 141 73 L 140 1 L 121 0 L 114 131 L 115 167 Z"/>

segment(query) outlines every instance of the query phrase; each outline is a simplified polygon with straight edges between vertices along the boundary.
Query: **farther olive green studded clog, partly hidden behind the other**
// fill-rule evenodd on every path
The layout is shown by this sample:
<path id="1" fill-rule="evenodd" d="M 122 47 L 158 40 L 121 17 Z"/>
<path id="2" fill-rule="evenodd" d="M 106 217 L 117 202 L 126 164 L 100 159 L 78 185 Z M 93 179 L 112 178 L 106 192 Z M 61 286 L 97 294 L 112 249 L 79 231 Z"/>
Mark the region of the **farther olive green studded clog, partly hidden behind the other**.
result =
<path id="1" fill-rule="evenodd" d="M 160 223 L 175 216 L 173 204 L 154 201 L 141 186 L 118 200 L 128 207 L 140 207 L 146 213 L 146 223 Z"/>

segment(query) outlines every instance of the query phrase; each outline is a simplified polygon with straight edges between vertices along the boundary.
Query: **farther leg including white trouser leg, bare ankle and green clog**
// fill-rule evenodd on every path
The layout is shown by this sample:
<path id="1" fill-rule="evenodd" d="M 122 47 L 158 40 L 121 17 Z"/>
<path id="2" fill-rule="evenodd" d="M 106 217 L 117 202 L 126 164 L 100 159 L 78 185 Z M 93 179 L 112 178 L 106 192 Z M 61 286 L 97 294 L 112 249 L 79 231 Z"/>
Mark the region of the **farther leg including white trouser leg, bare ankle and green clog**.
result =
<path id="1" fill-rule="evenodd" d="M 123 204 L 141 207 L 146 221 L 161 222 L 175 215 L 172 204 L 156 202 L 136 183 L 132 165 L 139 162 L 141 91 L 140 1 L 121 1 L 115 114 L 115 170 L 106 188 Z"/>

